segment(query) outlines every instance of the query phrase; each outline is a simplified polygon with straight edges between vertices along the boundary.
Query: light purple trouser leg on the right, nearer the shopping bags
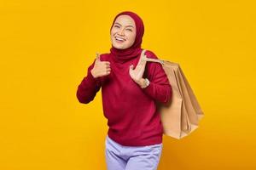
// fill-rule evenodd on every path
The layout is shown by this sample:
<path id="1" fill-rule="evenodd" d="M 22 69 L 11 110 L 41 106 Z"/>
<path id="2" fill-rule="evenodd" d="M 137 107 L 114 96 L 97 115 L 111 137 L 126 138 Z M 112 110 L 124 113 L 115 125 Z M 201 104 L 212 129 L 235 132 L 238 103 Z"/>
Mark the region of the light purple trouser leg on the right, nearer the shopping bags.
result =
<path id="1" fill-rule="evenodd" d="M 138 147 L 127 161 L 125 170 L 157 170 L 163 144 Z"/>

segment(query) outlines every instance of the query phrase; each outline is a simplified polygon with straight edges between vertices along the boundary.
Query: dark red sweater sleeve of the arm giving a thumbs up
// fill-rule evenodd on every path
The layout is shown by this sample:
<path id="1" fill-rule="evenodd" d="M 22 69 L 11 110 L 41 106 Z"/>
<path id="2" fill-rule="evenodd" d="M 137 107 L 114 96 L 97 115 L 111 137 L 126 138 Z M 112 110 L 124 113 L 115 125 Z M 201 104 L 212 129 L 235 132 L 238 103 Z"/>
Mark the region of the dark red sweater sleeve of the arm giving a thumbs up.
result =
<path id="1" fill-rule="evenodd" d="M 91 69 L 95 64 L 96 59 L 94 62 L 88 67 L 87 69 L 87 76 L 84 77 L 82 82 L 80 82 L 79 87 L 77 89 L 77 98 L 79 99 L 80 103 L 88 104 L 91 100 L 93 100 L 96 96 L 96 93 L 102 87 L 102 83 L 100 77 L 93 77 L 91 74 Z"/>

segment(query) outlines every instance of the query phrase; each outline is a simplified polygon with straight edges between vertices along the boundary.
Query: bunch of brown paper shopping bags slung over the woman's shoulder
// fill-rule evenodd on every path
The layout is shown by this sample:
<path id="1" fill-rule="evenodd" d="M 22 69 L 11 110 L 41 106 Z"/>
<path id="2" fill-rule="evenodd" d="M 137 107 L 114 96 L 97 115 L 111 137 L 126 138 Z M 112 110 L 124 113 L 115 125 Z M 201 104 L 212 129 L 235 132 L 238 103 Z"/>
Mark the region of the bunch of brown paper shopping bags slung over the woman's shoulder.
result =
<path id="1" fill-rule="evenodd" d="M 204 116 L 195 94 L 180 65 L 164 59 L 149 59 L 146 55 L 142 57 L 146 61 L 160 63 L 166 72 L 172 86 L 172 99 L 167 104 L 157 102 L 157 109 L 161 115 L 164 134 L 182 139 L 199 126 L 199 121 Z"/>

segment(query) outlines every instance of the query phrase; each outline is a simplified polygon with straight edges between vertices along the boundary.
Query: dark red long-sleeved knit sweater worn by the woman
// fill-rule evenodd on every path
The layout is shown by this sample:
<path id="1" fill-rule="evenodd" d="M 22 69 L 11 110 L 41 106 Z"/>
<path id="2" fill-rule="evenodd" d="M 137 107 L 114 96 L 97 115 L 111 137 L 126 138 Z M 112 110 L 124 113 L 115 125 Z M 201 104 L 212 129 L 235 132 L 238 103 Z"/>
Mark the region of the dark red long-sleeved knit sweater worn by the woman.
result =
<path id="1" fill-rule="evenodd" d="M 151 52 L 148 58 L 158 59 Z M 136 68 L 139 57 L 114 62 L 109 54 L 102 54 L 102 61 L 109 61 L 111 73 L 106 77 L 94 78 L 88 67 L 87 76 L 79 84 L 77 98 L 88 104 L 102 88 L 103 114 L 108 119 L 108 136 L 126 146 L 145 146 L 162 142 L 163 127 L 155 101 L 167 103 L 171 99 L 172 87 L 160 63 L 147 62 L 143 77 L 149 80 L 147 88 L 140 88 L 129 74 L 130 65 Z"/>

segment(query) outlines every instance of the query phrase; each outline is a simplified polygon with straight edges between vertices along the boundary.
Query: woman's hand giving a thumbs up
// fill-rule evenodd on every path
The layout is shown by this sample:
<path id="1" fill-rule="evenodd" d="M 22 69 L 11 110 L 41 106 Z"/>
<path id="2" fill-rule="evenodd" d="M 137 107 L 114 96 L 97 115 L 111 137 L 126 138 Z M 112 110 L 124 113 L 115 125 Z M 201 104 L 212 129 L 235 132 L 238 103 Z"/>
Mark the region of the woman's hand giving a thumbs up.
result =
<path id="1" fill-rule="evenodd" d="M 100 54 L 96 54 L 96 61 L 91 69 L 91 74 L 93 77 L 105 77 L 110 74 L 110 62 L 109 61 L 101 61 Z"/>

